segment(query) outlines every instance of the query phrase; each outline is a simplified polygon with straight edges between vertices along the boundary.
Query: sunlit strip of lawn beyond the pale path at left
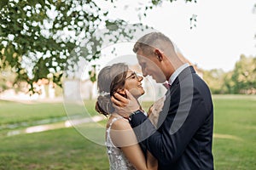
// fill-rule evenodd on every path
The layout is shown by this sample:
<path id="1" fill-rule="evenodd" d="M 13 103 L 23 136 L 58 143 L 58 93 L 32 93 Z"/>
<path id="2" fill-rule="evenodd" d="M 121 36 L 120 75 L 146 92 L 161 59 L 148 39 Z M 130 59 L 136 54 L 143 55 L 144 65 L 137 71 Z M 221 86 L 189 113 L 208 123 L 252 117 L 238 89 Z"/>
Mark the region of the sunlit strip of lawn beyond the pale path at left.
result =
<path id="1" fill-rule="evenodd" d="M 0 127 L 7 124 L 26 122 L 27 125 L 33 125 L 33 122 L 46 119 L 63 118 L 67 116 L 95 116 L 97 112 L 94 109 L 95 101 L 85 100 L 84 105 L 67 103 L 19 103 L 0 100 Z M 1 129 L 1 128 L 0 128 Z"/>

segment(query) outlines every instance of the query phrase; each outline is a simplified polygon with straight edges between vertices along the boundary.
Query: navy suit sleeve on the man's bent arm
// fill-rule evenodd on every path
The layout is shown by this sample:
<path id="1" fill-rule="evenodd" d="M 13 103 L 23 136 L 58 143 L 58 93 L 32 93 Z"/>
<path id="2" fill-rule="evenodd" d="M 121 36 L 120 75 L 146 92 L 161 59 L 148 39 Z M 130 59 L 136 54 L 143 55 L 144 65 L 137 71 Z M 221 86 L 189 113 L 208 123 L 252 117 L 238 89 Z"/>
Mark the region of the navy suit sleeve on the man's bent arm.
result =
<path id="1" fill-rule="evenodd" d="M 172 98 L 171 98 L 172 96 Z M 190 91 L 172 90 L 166 96 L 164 110 L 160 113 L 160 128 L 156 130 L 143 114 L 134 115 L 131 125 L 137 138 L 162 164 L 177 161 L 196 131 L 209 115 L 201 93 L 195 88 Z"/>

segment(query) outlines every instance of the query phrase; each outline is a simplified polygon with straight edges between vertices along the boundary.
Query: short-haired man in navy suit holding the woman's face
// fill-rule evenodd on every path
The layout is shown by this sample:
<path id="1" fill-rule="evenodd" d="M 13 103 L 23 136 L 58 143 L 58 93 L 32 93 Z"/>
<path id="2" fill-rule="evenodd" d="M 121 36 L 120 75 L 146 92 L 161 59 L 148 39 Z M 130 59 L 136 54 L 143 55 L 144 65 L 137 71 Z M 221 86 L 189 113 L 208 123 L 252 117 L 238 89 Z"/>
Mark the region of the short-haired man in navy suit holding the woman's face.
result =
<path id="1" fill-rule="evenodd" d="M 144 77 L 170 85 L 157 129 L 128 91 L 127 99 L 114 94 L 115 108 L 129 118 L 138 141 L 159 161 L 159 169 L 213 169 L 213 107 L 207 84 L 179 59 L 172 41 L 160 32 L 141 37 L 133 51 Z"/>

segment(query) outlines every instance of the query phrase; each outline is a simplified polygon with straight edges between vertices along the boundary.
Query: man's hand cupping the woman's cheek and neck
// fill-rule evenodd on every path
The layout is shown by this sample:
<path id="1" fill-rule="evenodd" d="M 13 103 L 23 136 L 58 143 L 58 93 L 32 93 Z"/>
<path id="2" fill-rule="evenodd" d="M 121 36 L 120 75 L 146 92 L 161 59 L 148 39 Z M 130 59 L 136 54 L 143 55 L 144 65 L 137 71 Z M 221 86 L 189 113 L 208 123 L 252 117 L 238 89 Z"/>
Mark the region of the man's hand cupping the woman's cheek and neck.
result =
<path id="1" fill-rule="evenodd" d="M 122 95 L 115 93 L 113 94 L 114 97 L 111 97 L 113 102 L 113 107 L 119 113 L 119 115 L 128 118 L 134 111 L 139 110 L 140 105 L 137 102 L 131 93 L 125 89 L 125 94 L 127 99 Z"/>

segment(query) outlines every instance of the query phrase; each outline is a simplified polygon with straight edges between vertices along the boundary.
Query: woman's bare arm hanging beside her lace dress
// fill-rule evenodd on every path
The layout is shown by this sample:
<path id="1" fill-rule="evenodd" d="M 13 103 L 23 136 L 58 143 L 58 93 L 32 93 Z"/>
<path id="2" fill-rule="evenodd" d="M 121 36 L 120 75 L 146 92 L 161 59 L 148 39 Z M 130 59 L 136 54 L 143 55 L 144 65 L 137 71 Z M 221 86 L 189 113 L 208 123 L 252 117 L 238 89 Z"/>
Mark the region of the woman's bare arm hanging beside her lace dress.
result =
<path id="1" fill-rule="evenodd" d="M 113 144 L 123 150 L 126 158 L 137 170 L 156 170 L 157 164 L 155 159 L 151 155 L 148 155 L 148 159 L 145 159 L 143 150 L 137 143 L 137 138 L 133 132 L 129 122 L 124 119 L 119 119 L 114 122 L 110 131 Z"/>

